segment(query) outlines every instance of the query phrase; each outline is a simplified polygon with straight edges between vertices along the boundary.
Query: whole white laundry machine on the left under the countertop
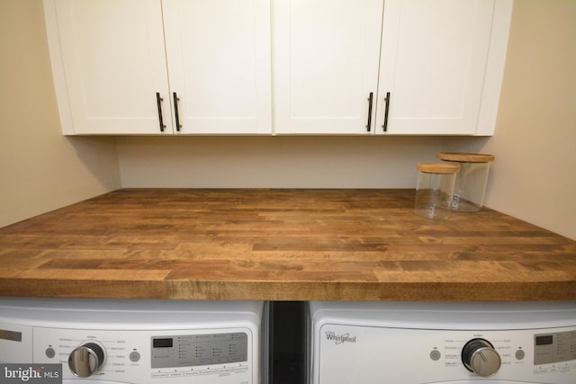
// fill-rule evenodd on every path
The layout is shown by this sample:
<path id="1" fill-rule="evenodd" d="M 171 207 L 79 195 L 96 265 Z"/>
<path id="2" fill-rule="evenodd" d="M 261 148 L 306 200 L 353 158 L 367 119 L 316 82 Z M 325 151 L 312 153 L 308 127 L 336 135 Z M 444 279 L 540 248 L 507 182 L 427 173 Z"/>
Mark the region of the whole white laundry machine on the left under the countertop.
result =
<path id="1" fill-rule="evenodd" d="M 70 384 L 266 383 L 266 307 L 256 301 L 0 299 L 0 382 L 50 374 Z"/>

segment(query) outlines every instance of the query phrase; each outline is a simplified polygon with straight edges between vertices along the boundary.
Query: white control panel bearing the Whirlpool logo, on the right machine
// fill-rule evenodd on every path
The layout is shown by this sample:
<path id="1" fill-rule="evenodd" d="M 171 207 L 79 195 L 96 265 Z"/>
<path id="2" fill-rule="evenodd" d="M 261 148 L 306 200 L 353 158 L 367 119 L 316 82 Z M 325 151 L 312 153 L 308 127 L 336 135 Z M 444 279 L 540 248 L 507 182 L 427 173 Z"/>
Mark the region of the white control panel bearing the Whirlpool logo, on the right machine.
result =
<path id="1" fill-rule="evenodd" d="M 399 384 L 573 384 L 576 326 L 446 330 L 327 322 L 316 328 L 312 364 L 314 384 L 372 383 L 379 377 Z"/>

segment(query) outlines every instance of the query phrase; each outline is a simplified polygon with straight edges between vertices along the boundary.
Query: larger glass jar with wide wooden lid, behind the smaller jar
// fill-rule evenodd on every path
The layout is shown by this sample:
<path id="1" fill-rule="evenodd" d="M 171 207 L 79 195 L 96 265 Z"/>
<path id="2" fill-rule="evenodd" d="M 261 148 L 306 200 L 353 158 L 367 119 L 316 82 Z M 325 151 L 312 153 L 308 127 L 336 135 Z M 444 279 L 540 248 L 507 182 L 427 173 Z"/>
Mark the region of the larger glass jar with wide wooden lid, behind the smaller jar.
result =
<path id="1" fill-rule="evenodd" d="M 488 173 L 493 155 L 439 153 L 437 157 L 448 164 L 460 165 L 456 176 L 452 210 L 477 212 L 482 210 Z"/>

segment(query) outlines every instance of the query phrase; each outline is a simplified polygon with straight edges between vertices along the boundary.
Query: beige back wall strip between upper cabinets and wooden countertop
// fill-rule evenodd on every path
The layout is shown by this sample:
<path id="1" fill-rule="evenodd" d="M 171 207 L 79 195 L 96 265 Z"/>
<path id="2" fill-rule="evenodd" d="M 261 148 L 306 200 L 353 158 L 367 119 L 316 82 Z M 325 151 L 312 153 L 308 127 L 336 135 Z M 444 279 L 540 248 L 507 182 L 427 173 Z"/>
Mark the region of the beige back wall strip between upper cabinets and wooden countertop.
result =
<path id="1" fill-rule="evenodd" d="M 413 188 L 430 137 L 125 137 L 124 187 Z"/>

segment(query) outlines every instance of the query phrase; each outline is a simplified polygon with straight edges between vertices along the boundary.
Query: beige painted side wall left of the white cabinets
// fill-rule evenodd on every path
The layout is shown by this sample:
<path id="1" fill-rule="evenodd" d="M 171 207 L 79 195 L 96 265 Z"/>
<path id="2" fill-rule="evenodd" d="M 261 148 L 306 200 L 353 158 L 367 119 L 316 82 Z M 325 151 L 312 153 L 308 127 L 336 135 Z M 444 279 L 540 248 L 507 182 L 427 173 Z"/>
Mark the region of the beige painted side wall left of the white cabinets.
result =
<path id="1" fill-rule="evenodd" d="M 65 138 L 41 0 L 0 1 L 0 227 L 121 187 L 113 138 Z"/>

